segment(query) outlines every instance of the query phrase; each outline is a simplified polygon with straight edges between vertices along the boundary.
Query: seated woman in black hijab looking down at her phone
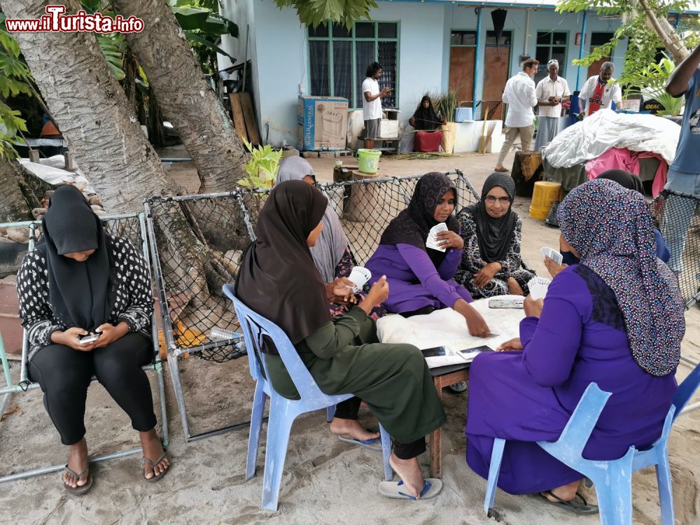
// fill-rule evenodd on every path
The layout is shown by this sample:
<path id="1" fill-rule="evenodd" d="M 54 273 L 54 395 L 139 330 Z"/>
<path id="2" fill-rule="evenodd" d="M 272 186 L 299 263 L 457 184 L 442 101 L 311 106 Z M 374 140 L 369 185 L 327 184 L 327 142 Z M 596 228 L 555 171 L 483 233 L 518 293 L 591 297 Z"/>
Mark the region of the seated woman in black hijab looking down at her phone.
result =
<path id="1" fill-rule="evenodd" d="M 41 386 L 61 442 L 70 447 L 64 489 L 83 494 L 92 486 L 83 419 L 93 375 L 139 431 L 144 479 L 158 481 L 168 458 L 141 370 L 153 359 L 146 260 L 124 239 L 105 234 L 74 186 L 53 193 L 42 225 L 41 241 L 18 271 L 17 291 L 29 339 L 29 376 Z"/>

